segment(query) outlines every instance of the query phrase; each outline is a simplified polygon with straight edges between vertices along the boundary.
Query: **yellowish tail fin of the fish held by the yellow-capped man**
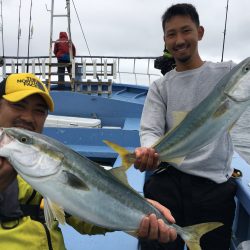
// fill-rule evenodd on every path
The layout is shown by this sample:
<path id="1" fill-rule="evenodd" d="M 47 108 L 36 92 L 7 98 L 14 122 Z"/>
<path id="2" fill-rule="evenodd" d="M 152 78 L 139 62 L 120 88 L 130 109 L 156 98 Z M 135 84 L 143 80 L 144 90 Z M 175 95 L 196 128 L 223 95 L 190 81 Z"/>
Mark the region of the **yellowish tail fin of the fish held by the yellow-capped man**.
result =
<path id="1" fill-rule="evenodd" d="M 220 222 L 207 222 L 193 226 L 184 227 L 182 239 L 187 244 L 190 250 L 202 250 L 200 246 L 200 238 L 202 235 L 222 226 Z"/>

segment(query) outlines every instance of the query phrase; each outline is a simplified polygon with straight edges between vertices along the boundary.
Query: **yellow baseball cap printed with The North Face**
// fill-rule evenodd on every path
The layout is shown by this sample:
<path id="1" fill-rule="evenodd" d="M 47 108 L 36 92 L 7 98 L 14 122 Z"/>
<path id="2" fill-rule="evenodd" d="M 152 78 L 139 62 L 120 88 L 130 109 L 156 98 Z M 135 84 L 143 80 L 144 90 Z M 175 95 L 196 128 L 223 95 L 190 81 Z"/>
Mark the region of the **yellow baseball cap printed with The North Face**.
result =
<path id="1" fill-rule="evenodd" d="M 0 96 L 9 102 L 18 102 L 34 94 L 40 95 L 49 110 L 54 111 L 54 102 L 48 89 L 34 74 L 11 74 L 0 83 Z"/>

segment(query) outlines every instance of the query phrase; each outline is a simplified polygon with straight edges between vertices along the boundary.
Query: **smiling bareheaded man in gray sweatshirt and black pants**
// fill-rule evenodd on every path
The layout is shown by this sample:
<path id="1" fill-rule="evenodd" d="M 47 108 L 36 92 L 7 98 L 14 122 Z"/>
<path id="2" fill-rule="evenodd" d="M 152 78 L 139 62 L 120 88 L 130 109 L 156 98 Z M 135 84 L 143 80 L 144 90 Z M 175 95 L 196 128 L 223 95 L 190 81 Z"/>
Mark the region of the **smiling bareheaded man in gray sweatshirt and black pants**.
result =
<path id="1" fill-rule="evenodd" d="M 151 147 L 173 129 L 174 113 L 196 107 L 235 64 L 201 59 L 198 43 L 204 35 L 195 7 L 188 3 L 169 7 L 162 16 L 166 48 L 176 67 L 151 84 L 142 113 L 141 147 L 135 167 L 155 171 L 144 184 L 144 195 L 168 206 L 180 226 L 217 221 L 224 225 L 201 238 L 203 250 L 228 250 L 232 237 L 237 185 L 232 178 L 233 144 L 228 131 L 209 145 L 188 155 L 180 165 L 160 163 Z M 141 249 L 183 250 L 180 237 L 162 244 L 141 241 Z"/>

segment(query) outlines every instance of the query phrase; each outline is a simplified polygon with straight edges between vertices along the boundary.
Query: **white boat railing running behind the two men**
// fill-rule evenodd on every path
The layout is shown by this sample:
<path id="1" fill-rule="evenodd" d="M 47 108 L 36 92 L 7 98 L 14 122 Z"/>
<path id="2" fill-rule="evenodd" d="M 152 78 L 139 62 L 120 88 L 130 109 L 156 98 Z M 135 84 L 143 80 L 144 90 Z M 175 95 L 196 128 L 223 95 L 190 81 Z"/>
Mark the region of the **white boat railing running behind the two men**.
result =
<path id="1" fill-rule="evenodd" d="M 160 71 L 154 68 L 154 60 L 155 57 L 76 56 L 71 62 L 72 72 L 65 73 L 65 78 L 66 82 L 73 79 L 78 85 L 116 82 L 149 86 L 161 76 Z M 59 64 L 56 57 L 52 57 L 49 63 L 48 56 L 5 56 L 0 59 L 0 66 L 2 78 L 12 73 L 30 72 L 45 82 L 51 79 L 51 83 L 56 84 L 58 66 L 67 65 Z"/>

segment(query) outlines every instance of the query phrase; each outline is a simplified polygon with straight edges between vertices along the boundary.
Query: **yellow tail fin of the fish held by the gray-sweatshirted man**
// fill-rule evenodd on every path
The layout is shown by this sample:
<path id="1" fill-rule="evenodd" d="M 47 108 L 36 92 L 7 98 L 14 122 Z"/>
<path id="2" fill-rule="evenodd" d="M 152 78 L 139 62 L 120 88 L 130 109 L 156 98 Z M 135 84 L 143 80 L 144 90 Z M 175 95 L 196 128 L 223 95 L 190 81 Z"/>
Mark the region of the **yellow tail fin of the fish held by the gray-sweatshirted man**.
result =
<path id="1" fill-rule="evenodd" d="M 119 146 L 113 142 L 103 140 L 110 148 L 117 152 L 122 159 L 122 166 L 127 170 L 135 162 L 135 154 L 128 151 L 124 147 Z"/>

